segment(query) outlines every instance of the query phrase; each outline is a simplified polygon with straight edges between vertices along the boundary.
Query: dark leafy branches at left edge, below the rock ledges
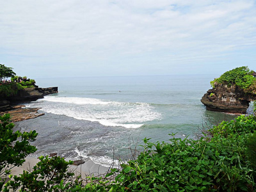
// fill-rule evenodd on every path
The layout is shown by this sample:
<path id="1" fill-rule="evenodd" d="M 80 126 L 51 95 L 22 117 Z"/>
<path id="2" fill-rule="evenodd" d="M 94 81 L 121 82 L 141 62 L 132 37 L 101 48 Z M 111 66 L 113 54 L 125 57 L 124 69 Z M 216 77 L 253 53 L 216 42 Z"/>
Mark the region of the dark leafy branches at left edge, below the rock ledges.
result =
<path id="1" fill-rule="evenodd" d="M 20 166 L 28 154 L 36 151 L 29 141 L 35 141 L 37 133 L 13 132 L 14 124 L 10 123 L 10 114 L 0 116 L 0 177 L 7 177 L 14 166 Z M 4 179 L 5 180 L 5 179 Z M 4 180 L 0 181 L 0 189 Z"/>

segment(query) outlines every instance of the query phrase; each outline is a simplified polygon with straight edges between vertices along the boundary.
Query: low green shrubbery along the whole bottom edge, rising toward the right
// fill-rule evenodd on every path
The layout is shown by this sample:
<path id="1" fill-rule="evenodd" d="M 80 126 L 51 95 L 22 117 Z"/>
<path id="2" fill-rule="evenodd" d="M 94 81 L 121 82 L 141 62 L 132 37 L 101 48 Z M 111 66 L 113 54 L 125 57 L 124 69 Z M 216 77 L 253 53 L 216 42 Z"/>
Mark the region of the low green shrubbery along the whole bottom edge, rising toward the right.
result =
<path id="1" fill-rule="evenodd" d="M 255 191 L 255 130 L 256 117 L 241 115 L 209 129 L 210 134 L 200 140 L 181 140 L 175 134 L 170 142 L 151 143 L 145 138 L 144 150 L 136 160 L 105 177 L 86 181 L 68 173 L 70 162 L 40 157 L 32 172 L 13 177 L 4 190 Z"/>

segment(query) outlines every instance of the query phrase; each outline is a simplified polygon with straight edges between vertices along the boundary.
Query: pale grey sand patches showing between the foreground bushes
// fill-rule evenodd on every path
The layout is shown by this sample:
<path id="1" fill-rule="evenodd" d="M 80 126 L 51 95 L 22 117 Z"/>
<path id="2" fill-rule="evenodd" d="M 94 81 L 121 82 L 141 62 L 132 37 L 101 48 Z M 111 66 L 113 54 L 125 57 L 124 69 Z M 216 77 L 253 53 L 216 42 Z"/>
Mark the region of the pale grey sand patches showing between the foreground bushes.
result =
<path id="1" fill-rule="evenodd" d="M 23 170 L 32 170 L 40 160 L 36 157 L 26 157 L 26 161 L 22 166 L 14 167 L 12 169 L 12 175 L 20 175 Z M 86 176 L 98 176 L 108 172 L 109 168 L 100 164 L 93 163 L 91 160 L 86 160 L 85 163 L 70 166 L 70 171 L 74 172 L 76 176 L 81 175 L 84 179 Z"/>

